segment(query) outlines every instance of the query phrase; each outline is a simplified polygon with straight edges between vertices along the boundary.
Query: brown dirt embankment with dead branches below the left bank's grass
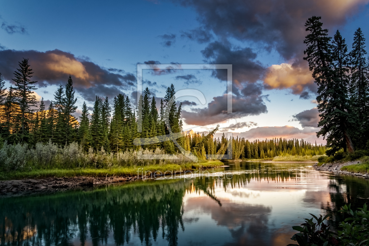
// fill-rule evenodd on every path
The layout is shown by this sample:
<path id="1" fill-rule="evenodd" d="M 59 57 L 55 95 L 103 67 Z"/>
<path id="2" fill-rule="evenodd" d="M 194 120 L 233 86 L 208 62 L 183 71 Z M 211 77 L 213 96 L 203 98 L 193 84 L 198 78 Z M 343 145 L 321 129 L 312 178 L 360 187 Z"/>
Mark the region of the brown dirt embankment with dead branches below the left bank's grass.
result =
<path id="1" fill-rule="evenodd" d="M 46 178 L 0 181 L 0 197 L 14 196 L 30 193 L 48 193 L 73 188 L 92 187 L 99 184 L 120 183 L 141 179 L 141 177 L 72 177 L 72 178 Z"/>

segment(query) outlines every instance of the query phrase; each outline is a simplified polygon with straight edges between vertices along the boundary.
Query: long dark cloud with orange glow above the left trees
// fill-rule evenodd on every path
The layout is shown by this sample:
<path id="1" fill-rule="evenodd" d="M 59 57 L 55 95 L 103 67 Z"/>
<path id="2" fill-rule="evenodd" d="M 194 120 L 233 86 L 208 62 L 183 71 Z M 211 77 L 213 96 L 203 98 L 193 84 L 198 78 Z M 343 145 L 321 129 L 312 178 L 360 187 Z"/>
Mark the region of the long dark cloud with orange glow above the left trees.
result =
<path id="1" fill-rule="evenodd" d="M 113 90 L 131 89 L 136 82 L 136 77 L 132 73 L 112 73 L 93 62 L 76 58 L 72 53 L 58 49 L 46 52 L 10 49 L 0 51 L 0 71 L 3 73 L 4 79 L 10 81 L 13 79 L 13 72 L 17 69 L 18 62 L 23 58 L 29 59 L 34 72 L 32 79 L 38 81 L 38 87 L 65 84 L 68 76 L 71 75 L 73 88 L 86 96 L 86 100 L 89 101 L 92 99 L 94 101 L 92 95 L 95 93 L 101 95 L 101 92 L 106 94 L 114 92 L 116 94 L 116 91 Z M 109 86 L 106 86 L 107 84 Z"/>

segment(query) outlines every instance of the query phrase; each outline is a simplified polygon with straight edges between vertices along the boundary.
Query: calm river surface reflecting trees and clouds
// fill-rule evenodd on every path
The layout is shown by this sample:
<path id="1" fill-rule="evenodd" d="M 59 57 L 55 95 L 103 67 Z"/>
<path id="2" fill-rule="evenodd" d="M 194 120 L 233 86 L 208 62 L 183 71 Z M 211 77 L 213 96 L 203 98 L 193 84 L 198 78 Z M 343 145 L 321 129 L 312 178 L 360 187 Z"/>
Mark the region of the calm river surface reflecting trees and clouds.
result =
<path id="1" fill-rule="evenodd" d="M 343 204 L 368 202 L 367 180 L 311 163 L 228 164 L 187 179 L 0 198 L 0 245 L 285 246 L 308 213 L 334 212 L 336 226 Z"/>

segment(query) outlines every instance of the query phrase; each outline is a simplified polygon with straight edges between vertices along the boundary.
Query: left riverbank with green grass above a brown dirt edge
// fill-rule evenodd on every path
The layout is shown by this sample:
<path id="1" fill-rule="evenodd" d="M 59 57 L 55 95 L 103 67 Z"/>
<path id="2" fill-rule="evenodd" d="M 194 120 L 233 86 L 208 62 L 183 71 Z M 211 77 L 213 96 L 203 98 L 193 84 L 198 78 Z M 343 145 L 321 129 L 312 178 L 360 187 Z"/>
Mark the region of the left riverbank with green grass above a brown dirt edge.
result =
<path id="1" fill-rule="evenodd" d="M 49 169 L 0 173 L 0 196 L 55 192 L 94 185 L 180 174 L 184 171 L 224 166 L 218 160 L 187 164 L 117 167 L 112 169 Z"/>

